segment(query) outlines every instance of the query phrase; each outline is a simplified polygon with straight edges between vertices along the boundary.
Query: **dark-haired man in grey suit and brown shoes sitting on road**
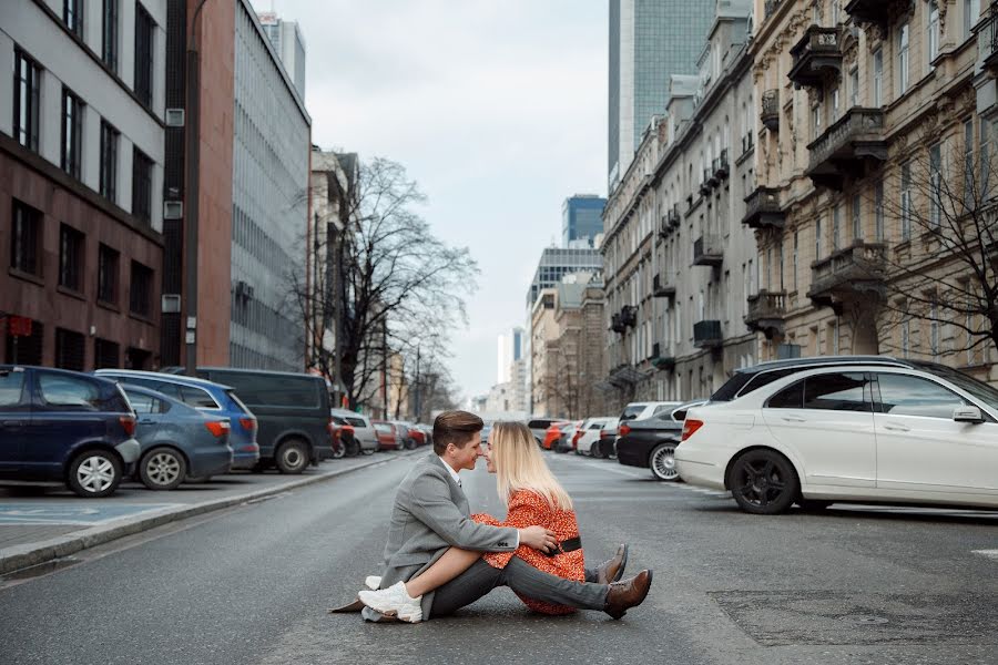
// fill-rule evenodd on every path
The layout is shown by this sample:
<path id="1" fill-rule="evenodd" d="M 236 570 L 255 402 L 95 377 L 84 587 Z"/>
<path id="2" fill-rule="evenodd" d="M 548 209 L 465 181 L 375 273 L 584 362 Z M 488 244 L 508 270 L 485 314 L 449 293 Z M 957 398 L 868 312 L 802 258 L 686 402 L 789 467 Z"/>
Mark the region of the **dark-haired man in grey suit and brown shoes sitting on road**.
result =
<path id="1" fill-rule="evenodd" d="M 473 469 L 482 454 L 481 429 L 481 419 L 467 411 L 445 411 L 434 421 L 434 452 L 416 463 L 395 497 L 380 589 L 397 593 L 398 604 L 415 621 L 449 614 L 496 586 L 509 586 L 518 594 L 552 604 L 602 610 L 614 617 L 640 604 L 648 594 L 650 577 L 618 582 L 627 560 L 623 545 L 617 556 L 595 570 L 587 570 L 587 582 L 543 573 L 516 556 L 503 569 L 479 559 L 436 592 L 419 600 L 408 596 L 405 582 L 428 569 L 451 546 L 511 552 L 525 544 L 546 553 L 559 546 L 554 532 L 540 525 L 512 529 L 471 520 L 459 471 Z M 446 602 L 438 603 L 441 606 L 435 610 L 434 600 L 438 596 L 446 597 Z M 363 613 L 368 621 L 385 618 L 370 607 L 364 607 Z"/>

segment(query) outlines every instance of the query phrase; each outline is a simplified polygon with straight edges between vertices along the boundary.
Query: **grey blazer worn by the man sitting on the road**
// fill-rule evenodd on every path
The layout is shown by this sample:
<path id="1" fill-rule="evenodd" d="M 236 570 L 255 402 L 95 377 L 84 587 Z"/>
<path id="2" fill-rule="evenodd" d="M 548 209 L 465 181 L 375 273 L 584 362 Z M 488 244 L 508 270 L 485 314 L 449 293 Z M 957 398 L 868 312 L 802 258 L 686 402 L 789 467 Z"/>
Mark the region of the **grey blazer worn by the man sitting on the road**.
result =
<path id="1" fill-rule="evenodd" d="M 516 550 L 519 542 L 516 529 L 471 520 L 468 499 L 445 464 L 431 452 L 416 462 L 401 481 L 391 509 L 381 589 L 408 582 L 450 546 L 479 552 Z M 424 594 L 424 616 L 430 615 L 432 603 L 434 594 Z"/>

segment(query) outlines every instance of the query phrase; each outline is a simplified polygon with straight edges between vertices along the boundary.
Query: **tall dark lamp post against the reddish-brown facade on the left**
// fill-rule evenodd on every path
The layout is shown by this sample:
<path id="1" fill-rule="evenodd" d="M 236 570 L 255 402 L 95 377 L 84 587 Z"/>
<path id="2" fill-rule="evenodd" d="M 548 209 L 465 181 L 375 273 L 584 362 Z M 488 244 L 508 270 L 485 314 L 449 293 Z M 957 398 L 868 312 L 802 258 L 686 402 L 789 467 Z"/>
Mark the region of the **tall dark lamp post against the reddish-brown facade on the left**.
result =
<path id="1" fill-rule="evenodd" d="M 194 9 L 191 30 L 187 33 L 186 53 L 186 121 L 184 193 L 184 371 L 194 376 L 197 371 L 197 225 L 198 183 L 201 180 L 201 52 L 197 47 L 197 19 L 207 0 L 201 0 Z"/>

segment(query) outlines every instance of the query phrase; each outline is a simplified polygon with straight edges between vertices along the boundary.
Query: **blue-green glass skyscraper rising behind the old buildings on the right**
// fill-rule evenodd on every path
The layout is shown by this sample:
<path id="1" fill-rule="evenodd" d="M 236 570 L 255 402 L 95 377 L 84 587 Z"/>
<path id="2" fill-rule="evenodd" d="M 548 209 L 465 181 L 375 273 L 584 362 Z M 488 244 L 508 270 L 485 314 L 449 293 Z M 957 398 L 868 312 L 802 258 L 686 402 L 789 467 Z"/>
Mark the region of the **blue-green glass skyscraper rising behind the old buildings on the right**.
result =
<path id="1" fill-rule="evenodd" d="M 611 191 L 652 116 L 665 111 L 670 74 L 696 73 L 714 7 L 706 0 L 610 0 Z"/>

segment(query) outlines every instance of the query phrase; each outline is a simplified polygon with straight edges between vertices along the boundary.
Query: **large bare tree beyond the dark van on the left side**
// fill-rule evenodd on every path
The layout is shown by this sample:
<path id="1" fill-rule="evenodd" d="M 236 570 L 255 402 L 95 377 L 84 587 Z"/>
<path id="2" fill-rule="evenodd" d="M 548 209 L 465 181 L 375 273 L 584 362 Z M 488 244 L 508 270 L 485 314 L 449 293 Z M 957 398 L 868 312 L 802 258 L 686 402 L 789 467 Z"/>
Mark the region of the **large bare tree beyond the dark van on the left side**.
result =
<path id="1" fill-rule="evenodd" d="M 334 317 L 337 359 L 349 408 L 380 403 L 387 409 L 390 357 L 399 354 L 408 367 L 419 349 L 427 367 L 442 365 L 450 332 L 467 325 L 465 299 L 476 289 L 478 265 L 468 248 L 451 247 L 432 234 L 415 209 L 425 201 L 400 164 L 385 158 L 359 164 L 346 228 L 327 253 L 333 262 L 327 276 L 315 278 L 313 288 L 298 272 L 291 280 L 305 334 L 313 339 L 322 337 L 328 313 L 339 308 Z M 319 351 L 316 366 L 326 371 L 333 359 Z"/>

